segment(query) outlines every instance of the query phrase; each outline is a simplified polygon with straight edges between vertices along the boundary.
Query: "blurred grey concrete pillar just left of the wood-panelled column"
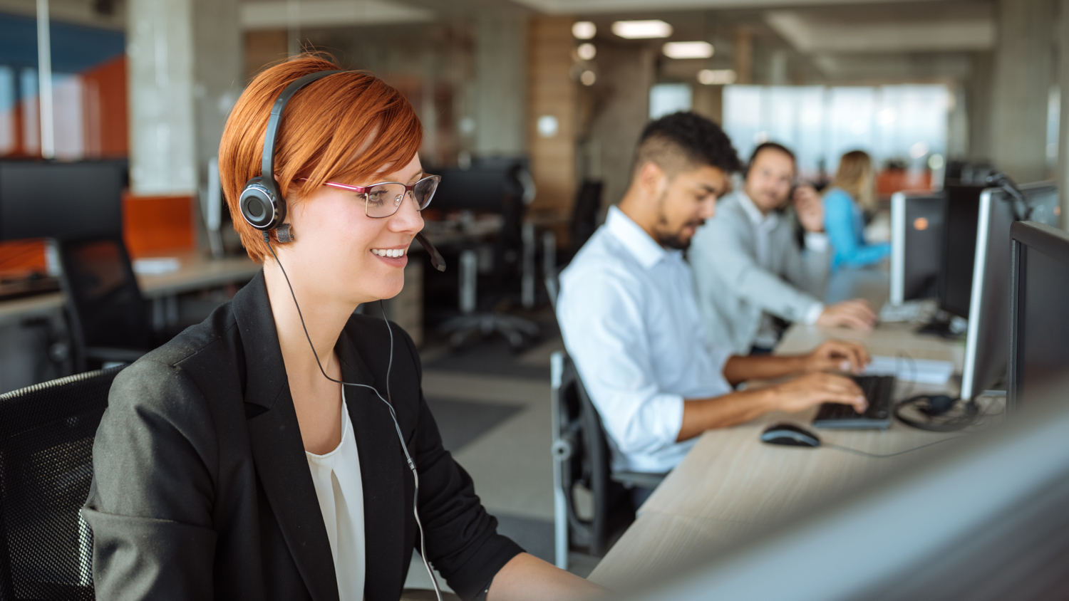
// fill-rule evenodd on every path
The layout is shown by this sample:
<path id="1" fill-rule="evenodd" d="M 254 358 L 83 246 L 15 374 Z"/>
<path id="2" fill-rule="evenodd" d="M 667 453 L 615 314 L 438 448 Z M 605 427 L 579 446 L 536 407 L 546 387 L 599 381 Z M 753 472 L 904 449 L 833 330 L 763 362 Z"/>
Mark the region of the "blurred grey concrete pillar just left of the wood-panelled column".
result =
<path id="1" fill-rule="evenodd" d="M 515 156 L 525 149 L 527 16 L 483 12 L 476 21 L 476 155 Z"/>

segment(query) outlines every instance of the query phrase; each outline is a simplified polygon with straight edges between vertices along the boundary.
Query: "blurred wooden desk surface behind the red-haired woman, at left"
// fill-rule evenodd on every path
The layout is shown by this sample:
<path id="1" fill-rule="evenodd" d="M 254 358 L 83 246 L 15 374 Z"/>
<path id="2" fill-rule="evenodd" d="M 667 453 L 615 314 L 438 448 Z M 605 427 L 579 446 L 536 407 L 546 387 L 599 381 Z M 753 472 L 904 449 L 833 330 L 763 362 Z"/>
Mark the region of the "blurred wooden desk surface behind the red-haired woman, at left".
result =
<path id="1" fill-rule="evenodd" d="M 168 256 L 176 256 L 181 262 L 177 271 L 159 275 L 137 276 L 141 294 L 146 298 L 180 295 L 221 286 L 230 282 L 251 280 L 261 267 L 245 255 L 218 260 L 198 252 L 176 253 Z M 62 292 L 0 301 L 0 326 L 51 314 L 62 306 Z"/>

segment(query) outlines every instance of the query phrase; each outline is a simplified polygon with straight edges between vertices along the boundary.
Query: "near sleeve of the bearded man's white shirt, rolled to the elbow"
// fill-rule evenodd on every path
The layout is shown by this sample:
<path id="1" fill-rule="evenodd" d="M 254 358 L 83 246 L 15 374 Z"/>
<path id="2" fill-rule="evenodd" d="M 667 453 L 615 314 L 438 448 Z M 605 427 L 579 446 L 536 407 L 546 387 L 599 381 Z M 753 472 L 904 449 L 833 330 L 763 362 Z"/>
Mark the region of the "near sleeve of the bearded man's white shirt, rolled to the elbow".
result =
<path id="1" fill-rule="evenodd" d="M 557 303 L 564 346 L 624 454 L 675 444 L 683 424 L 683 397 L 662 392 L 654 376 L 644 294 L 622 270 L 583 269 L 567 273 Z"/>

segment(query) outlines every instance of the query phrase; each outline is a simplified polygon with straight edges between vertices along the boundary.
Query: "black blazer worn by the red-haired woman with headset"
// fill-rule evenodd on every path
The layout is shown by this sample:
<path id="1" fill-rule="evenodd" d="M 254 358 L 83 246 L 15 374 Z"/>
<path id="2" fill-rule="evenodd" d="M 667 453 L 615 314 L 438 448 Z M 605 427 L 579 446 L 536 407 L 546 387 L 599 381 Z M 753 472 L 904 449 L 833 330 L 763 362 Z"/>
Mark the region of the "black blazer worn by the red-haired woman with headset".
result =
<path id="1" fill-rule="evenodd" d="M 463 598 L 523 550 L 441 447 L 412 339 L 393 327 L 390 388 L 419 470 L 427 555 Z M 354 315 L 338 341 L 346 382 L 386 396 L 390 342 Z M 365 598 L 396 600 L 417 543 L 414 480 L 387 407 L 345 390 L 363 481 Z M 203 323 L 123 369 L 93 445 L 82 509 L 99 599 L 314 599 L 338 583 L 263 272 Z"/>

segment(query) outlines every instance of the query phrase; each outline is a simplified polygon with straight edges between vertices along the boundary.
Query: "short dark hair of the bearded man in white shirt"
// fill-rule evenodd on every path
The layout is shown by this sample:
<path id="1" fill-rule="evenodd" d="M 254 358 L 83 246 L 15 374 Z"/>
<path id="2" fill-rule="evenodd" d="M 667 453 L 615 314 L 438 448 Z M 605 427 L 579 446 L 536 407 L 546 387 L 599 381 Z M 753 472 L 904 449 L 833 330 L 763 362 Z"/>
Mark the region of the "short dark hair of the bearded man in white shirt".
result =
<path id="1" fill-rule="evenodd" d="M 721 126 L 694 112 L 678 112 L 650 122 L 638 139 L 635 169 L 654 162 L 669 175 L 709 165 L 725 173 L 742 169 L 739 154 Z"/>

